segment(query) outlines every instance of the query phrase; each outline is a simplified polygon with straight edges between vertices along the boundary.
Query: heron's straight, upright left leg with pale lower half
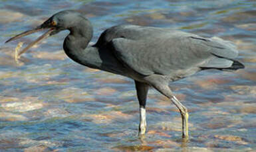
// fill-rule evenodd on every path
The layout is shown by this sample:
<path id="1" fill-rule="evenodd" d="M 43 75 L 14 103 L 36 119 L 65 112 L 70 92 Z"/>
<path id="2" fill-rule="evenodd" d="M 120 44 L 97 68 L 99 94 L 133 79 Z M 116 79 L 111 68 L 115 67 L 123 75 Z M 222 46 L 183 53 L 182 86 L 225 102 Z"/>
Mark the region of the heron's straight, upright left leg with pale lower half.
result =
<path id="1" fill-rule="evenodd" d="M 140 83 L 135 81 L 137 97 L 140 103 L 140 125 L 139 125 L 139 135 L 144 135 L 146 133 L 146 99 L 148 95 L 149 86 L 146 83 Z"/>

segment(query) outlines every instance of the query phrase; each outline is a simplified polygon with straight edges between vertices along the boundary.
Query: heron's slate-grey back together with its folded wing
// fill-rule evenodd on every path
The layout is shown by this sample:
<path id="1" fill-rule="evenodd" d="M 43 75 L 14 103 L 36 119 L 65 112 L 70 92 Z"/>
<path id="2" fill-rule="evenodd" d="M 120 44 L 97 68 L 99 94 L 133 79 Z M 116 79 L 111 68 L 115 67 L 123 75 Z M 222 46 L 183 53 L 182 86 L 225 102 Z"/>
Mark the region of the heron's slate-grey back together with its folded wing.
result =
<path id="1" fill-rule="evenodd" d="M 221 38 L 147 26 L 121 25 L 105 30 L 95 46 L 111 46 L 116 58 L 141 75 L 180 79 L 201 69 L 225 69 L 238 52 Z M 241 67 L 241 66 L 240 66 Z"/>

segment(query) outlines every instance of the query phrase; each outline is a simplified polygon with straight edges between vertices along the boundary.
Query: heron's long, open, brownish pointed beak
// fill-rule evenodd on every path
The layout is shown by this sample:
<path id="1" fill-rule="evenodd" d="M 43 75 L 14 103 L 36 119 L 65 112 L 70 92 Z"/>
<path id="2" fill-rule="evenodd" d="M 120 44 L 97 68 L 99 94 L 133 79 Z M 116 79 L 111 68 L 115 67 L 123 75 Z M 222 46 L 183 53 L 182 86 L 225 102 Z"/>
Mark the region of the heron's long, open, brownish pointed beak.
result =
<path id="1" fill-rule="evenodd" d="M 19 52 L 18 56 L 20 56 L 21 54 L 23 54 L 24 52 L 26 52 L 27 50 L 29 50 L 29 48 L 31 48 L 32 46 L 34 46 L 35 44 L 37 44 L 37 42 L 51 36 L 53 33 L 55 33 L 55 26 L 53 26 L 53 22 L 49 22 L 49 20 L 45 21 L 43 24 L 41 24 L 41 26 L 38 26 L 37 28 L 34 28 L 33 30 L 27 30 L 25 32 L 22 32 L 21 34 L 17 34 L 16 36 L 13 36 L 12 38 L 10 38 L 9 40 L 7 40 L 5 43 L 7 42 L 11 42 L 13 40 L 17 40 L 23 36 L 27 36 L 29 34 L 33 34 L 35 32 L 39 32 L 41 30 L 45 30 L 45 29 L 49 29 L 47 32 L 45 32 L 45 34 L 43 34 L 42 36 L 40 36 L 39 38 L 37 38 L 37 40 L 31 42 L 31 44 L 29 44 L 26 48 L 24 48 L 21 52 Z"/>

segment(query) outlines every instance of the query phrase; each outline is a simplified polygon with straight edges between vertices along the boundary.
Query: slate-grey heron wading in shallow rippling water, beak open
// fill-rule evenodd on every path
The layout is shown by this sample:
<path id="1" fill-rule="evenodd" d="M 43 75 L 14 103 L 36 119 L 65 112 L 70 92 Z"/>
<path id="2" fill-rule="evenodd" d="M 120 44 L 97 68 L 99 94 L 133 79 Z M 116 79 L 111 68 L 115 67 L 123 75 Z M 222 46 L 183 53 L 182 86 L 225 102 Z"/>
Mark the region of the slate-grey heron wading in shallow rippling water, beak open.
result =
<path id="1" fill-rule="evenodd" d="M 206 69 L 235 71 L 245 67 L 235 60 L 238 51 L 232 42 L 218 37 L 203 38 L 171 28 L 122 24 L 107 28 L 95 44 L 89 44 L 92 24 L 74 10 L 55 13 L 37 28 L 6 42 L 46 29 L 45 34 L 19 54 L 43 38 L 69 30 L 63 43 L 68 57 L 86 67 L 134 80 L 140 111 L 138 135 L 146 133 L 146 100 L 151 87 L 178 108 L 182 118 L 182 139 L 188 139 L 188 109 L 176 98 L 169 83 Z"/>

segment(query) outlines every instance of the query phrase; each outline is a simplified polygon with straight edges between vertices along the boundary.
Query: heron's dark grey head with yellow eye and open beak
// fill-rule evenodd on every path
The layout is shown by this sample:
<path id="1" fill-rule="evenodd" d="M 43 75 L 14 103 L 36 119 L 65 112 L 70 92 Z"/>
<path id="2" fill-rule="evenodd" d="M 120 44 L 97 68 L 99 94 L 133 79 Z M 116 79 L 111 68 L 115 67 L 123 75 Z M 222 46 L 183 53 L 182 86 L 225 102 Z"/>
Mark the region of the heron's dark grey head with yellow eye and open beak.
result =
<path id="1" fill-rule="evenodd" d="M 19 53 L 19 55 L 21 55 L 22 53 L 27 51 L 29 48 L 31 48 L 33 45 L 35 45 L 37 42 L 43 40 L 44 38 L 57 34 L 61 30 L 70 30 L 70 32 L 72 32 L 72 27 L 76 26 L 77 24 L 81 24 L 83 20 L 86 20 L 86 19 L 82 17 L 82 15 L 77 11 L 72 11 L 72 10 L 60 11 L 59 13 L 56 13 L 55 15 L 47 19 L 45 22 L 43 22 L 43 24 L 41 24 L 40 26 L 37 26 L 32 30 L 27 30 L 25 32 L 22 32 L 21 34 L 17 34 L 16 36 L 13 36 L 9 40 L 7 40 L 5 43 L 11 42 L 13 40 L 17 40 L 18 38 L 27 36 L 29 34 L 33 34 L 35 32 L 39 32 L 41 30 L 49 29 L 47 32 L 45 32 L 45 34 L 37 38 L 37 40 L 35 40 L 34 42 L 31 42 L 31 44 L 29 44 L 27 48 L 22 50 Z"/>

